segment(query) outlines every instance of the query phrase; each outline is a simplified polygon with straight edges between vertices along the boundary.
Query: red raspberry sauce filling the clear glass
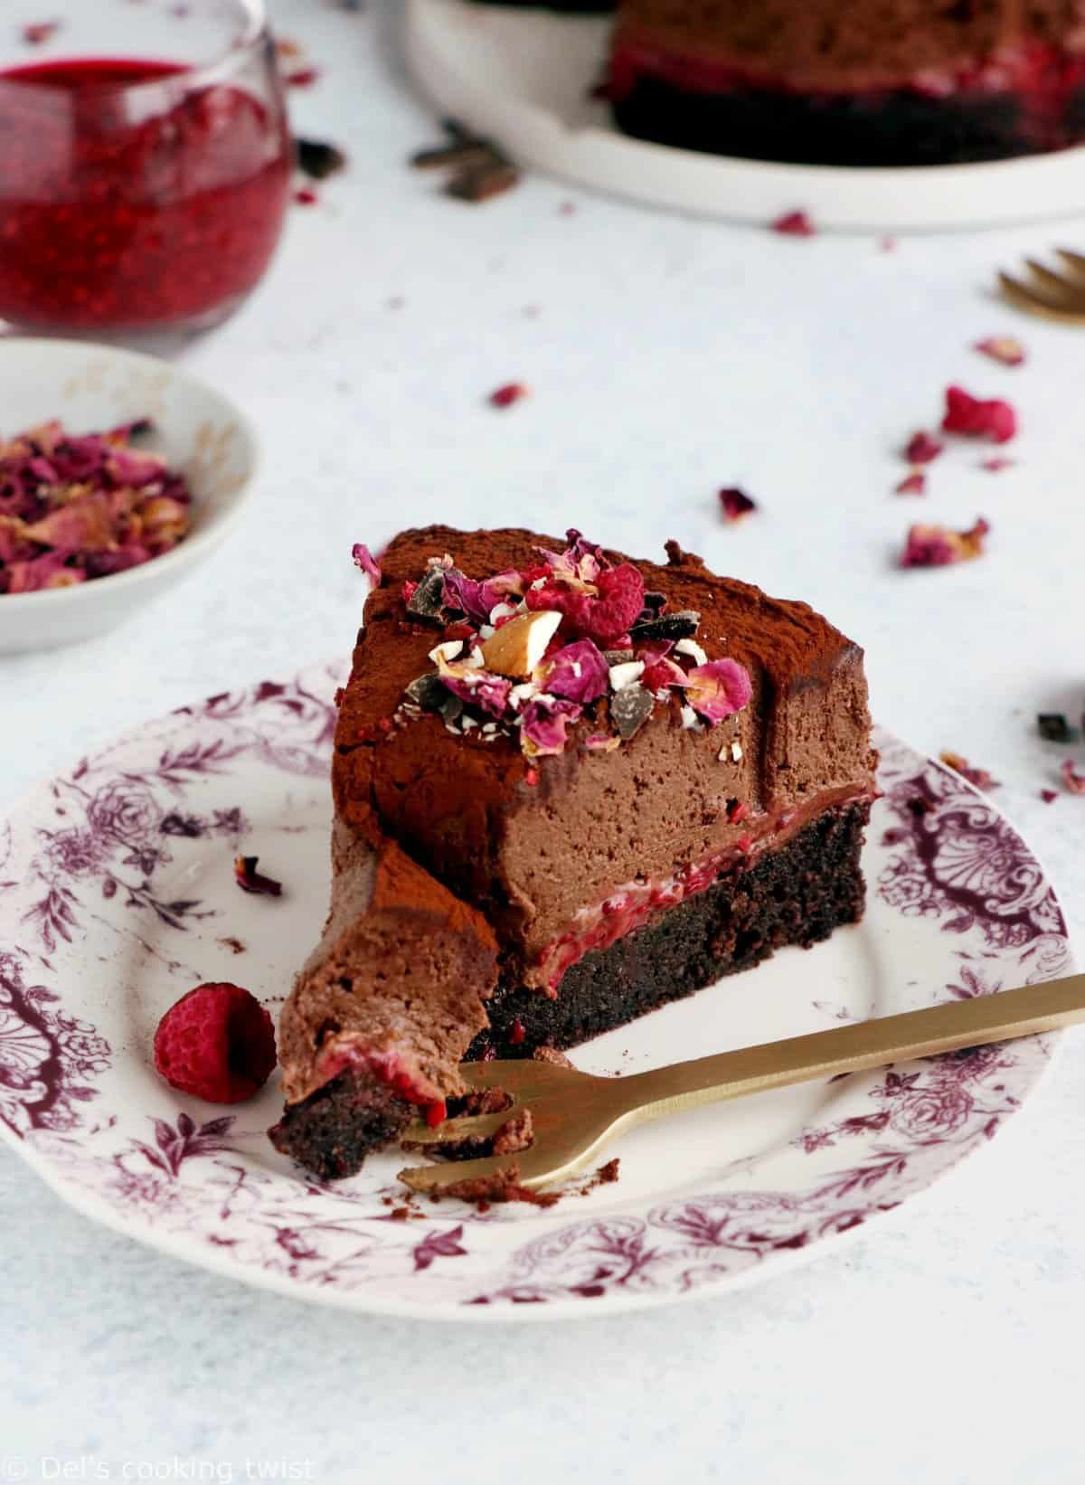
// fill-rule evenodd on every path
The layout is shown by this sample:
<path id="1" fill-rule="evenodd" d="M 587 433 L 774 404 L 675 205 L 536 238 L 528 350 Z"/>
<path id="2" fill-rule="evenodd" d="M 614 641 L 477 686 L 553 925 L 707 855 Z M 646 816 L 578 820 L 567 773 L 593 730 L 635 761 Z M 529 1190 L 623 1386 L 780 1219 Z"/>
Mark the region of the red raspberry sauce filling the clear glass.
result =
<path id="1" fill-rule="evenodd" d="M 266 31 L 202 70 L 128 56 L 0 71 L 0 319 L 199 328 L 263 276 L 291 141 Z"/>

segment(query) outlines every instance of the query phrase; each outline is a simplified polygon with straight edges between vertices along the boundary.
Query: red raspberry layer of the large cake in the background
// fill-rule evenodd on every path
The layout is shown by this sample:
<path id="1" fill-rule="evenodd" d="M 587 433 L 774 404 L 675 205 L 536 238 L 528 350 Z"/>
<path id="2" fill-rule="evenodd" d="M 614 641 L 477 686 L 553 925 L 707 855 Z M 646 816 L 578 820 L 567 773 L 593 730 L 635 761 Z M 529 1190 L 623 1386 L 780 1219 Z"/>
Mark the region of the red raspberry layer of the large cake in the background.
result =
<path id="1" fill-rule="evenodd" d="M 612 101 L 622 102 L 640 82 L 649 79 L 668 83 L 680 92 L 779 92 L 825 99 L 848 95 L 876 99 L 901 91 L 925 98 L 1012 94 L 1036 119 L 1058 120 L 1085 85 L 1085 56 L 1035 42 L 957 67 L 917 71 L 876 83 L 864 82 L 855 88 L 819 88 L 758 74 L 718 56 L 672 52 L 653 42 L 619 34 L 610 62 L 607 91 Z"/>

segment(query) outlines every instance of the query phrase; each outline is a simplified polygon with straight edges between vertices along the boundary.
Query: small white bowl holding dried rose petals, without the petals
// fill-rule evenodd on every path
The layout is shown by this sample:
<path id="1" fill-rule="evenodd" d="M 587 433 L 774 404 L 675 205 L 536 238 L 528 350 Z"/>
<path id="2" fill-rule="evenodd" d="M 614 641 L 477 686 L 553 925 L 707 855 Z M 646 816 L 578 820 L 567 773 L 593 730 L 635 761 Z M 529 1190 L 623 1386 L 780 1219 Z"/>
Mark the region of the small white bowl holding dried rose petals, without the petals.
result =
<path id="1" fill-rule="evenodd" d="M 0 594 L 0 655 L 73 644 L 132 618 L 211 555 L 257 469 L 257 437 L 242 413 L 169 362 L 79 340 L 0 339 L 0 437 L 52 417 L 77 434 L 150 417 L 150 447 L 191 487 L 191 532 L 165 555 L 110 578 Z"/>

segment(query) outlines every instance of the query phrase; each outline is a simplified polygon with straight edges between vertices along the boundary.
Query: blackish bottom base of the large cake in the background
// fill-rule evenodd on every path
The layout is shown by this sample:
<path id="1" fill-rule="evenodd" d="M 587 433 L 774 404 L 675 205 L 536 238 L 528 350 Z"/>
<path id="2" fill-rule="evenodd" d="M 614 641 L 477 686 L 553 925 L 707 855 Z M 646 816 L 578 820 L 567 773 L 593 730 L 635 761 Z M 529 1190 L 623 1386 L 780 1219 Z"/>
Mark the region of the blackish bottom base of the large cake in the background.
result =
<path id="1" fill-rule="evenodd" d="M 643 76 L 614 99 L 613 114 L 634 138 L 709 154 L 791 165 L 969 165 L 1082 143 L 1085 83 L 1060 113 L 1038 113 L 1014 92 L 686 92 Z"/>

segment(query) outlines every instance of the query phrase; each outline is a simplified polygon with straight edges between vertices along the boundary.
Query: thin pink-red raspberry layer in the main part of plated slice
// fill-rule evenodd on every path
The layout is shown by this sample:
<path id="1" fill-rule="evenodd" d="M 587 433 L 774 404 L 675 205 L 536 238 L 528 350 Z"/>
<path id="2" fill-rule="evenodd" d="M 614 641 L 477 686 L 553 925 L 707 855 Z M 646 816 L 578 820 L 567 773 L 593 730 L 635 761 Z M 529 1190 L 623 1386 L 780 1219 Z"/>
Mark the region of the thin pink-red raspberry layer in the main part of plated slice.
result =
<path id="1" fill-rule="evenodd" d="M 770 846 L 782 845 L 815 815 L 833 805 L 856 803 L 874 796 L 859 790 L 834 790 L 804 809 L 790 809 L 782 814 L 760 814 L 745 818 L 741 811 L 732 814 L 735 824 L 747 829 L 726 845 L 699 861 L 680 867 L 671 876 L 656 882 L 626 882 L 592 907 L 580 907 L 571 927 L 539 955 L 531 982 L 549 999 L 557 999 L 563 977 L 592 949 L 609 949 L 626 934 L 643 928 L 656 915 L 677 907 L 708 888 L 720 875 L 733 866 L 745 867 Z"/>

